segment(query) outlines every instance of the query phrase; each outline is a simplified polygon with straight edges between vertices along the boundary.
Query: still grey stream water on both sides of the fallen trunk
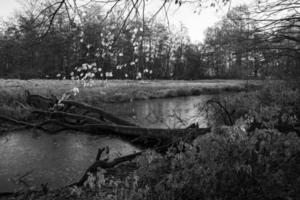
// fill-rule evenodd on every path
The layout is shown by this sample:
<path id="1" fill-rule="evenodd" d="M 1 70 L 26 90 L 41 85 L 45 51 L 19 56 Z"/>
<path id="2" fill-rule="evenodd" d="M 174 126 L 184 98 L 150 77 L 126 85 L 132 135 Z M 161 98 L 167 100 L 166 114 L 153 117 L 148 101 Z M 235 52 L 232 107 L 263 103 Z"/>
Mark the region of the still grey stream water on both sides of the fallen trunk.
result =
<path id="1" fill-rule="evenodd" d="M 105 110 L 143 127 L 207 126 L 203 105 L 211 96 L 155 99 L 105 106 Z M 28 185 L 48 183 L 52 188 L 77 181 L 95 160 L 98 148 L 109 146 L 110 158 L 138 151 L 126 141 L 78 132 L 48 135 L 22 131 L 0 136 L 0 192 L 18 187 L 13 180 L 27 175 Z"/>

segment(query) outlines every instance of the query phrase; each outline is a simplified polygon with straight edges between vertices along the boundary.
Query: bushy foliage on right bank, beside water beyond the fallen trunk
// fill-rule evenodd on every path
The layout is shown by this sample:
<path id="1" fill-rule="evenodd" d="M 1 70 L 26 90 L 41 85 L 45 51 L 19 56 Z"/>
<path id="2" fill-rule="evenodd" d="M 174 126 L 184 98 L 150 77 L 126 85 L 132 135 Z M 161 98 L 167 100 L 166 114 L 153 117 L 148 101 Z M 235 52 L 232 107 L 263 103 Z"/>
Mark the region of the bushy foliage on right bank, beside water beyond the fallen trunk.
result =
<path id="1" fill-rule="evenodd" d="M 224 97 L 220 103 L 225 106 L 229 117 L 236 123 L 246 123 L 250 131 L 256 128 L 276 128 L 281 132 L 295 130 L 300 119 L 299 89 L 282 82 L 267 83 L 256 92 L 243 92 L 234 97 Z M 224 120 L 224 110 L 214 107 L 214 117 Z"/>

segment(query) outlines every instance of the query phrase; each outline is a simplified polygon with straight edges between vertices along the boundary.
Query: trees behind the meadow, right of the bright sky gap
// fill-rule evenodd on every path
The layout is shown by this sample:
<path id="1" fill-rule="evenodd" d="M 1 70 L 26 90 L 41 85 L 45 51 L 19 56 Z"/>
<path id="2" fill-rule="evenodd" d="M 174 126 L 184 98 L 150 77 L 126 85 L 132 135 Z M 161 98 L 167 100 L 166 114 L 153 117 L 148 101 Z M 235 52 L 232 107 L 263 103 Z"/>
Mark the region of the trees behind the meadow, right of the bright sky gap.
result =
<path id="1" fill-rule="evenodd" d="M 283 3 L 282 0 L 262 2 L 268 9 L 258 11 L 262 9 L 260 3 L 253 9 L 245 5 L 235 7 L 207 29 L 202 55 L 209 69 L 208 74 L 243 78 L 273 76 L 281 79 L 299 76 L 299 49 L 295 47 L 299 45 L 299 40 L 296 40 L 299 38 L 299 18 L 288 20 L 289 17 L 283 14 L 289 13 L 287 10 L 297 12 L 293 15 L 295 17 L 299 15 L 299 6 L 295 2 L 286 3 L 287 7 L 277 4 Z M 281 14 L 274 17 L 270 12 Z M 262 17 L 264 15 L 272 19 L 265 19 Z"/>

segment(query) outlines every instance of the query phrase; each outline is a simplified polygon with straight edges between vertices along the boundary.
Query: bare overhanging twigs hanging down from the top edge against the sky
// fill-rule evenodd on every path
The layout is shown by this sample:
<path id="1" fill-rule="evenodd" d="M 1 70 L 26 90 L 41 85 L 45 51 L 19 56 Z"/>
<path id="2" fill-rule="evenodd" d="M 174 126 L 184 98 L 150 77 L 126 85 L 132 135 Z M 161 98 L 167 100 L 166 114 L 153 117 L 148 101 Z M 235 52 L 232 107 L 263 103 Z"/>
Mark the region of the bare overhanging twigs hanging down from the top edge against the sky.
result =
<path id="1" fill-rule="evenodd" d="M 29 2 L 31 2 L 31 6 L 37 7 L 38 3 L 36 0 L 32 0 Z M 197 8 L 201 8 L 207 6 L 216 7 L 217 5 L 224 5 L 228 2 L 230 2 L 230 0 L 161 0 L 160 7 L 154 12 L 154 14 L 152 15 L 152 17 L 149 18 L 149 20 L 153 21 L 156 18 L 156 16 L 161 12 L 165 13 L 165 17 L 168 20 L 168 9 L 166 8 L 167 5 L 170 4 L 176 4 L 178 6 L 182 6 L 184 4 L 193 4 Z M 126 26 L 126 22 L 133 15 L 141 15 L 140 17 L 143 18 L 143 23 L 145 22 L 145 8 L 147 4 L 146 0 L 89 0 L 87 2 L 82 0 L 47 0 L 44 3 L 40 3 L 39 7 L 42 9 L 40 9 L 39 13 L 36 15 L 37 19 L 42 17 L 42 20 L 39 23 L 39 25 L 43 27 L 42 36 L 49 32 L 57 15 L 66 13 L 70 22 L 73 23 L 75 18 L 80 18 L 80 7 L 87 6 L 91 3 L 99 3 L 107 8 L 107 14 L 104 19 L 106 19 L 108 15 L 111 14 L 114 11 L 114 9 L 117 8 L 117 6 L 123 7 L 124 11 L 127 12 L 125 13 L 124 23 L 122 27 Z"/>

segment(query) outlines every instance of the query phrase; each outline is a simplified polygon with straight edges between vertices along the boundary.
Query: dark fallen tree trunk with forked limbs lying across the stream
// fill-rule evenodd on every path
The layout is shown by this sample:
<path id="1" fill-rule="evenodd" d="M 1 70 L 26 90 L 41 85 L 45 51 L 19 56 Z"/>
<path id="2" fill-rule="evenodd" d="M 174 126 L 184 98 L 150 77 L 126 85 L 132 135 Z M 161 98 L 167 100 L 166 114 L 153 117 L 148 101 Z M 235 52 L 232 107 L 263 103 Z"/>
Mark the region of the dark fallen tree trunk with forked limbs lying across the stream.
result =
<path id="1" fill-rule="evenodd" d="M 46 97 L 40 97 L 39 95 L 27 94 L 32 101 L 39 98 L 40 101 L 46 99 L 48 104 L 51 99 Z M 54 98 L 53 98 L 54 99 Z M 112 114 L 109 114 L 100 108 L 90 106 L 85 103 L 78 103 L 75 101 L 62 101 L 65 108 L 75 107 L 77 109 L 61 111 L 60 108 L 55 109 L 55 106 L 46 110 L 35 110 L 33 115 L 38 115 L 38 122 L 24 122 L 15 120 L 5 116 L 0 116 L 1 121 L 5 121 L 10 124 L 23 126 L 25 128 L 37 128 L 49 133 L 57 133 L 65 130 L 74 130 L 81 132 L 88 132 L 92 134 L 115 134 L 125 139 L 130 139 L 131 142 L 144 142 L 144 145 L 148 148 L 150 146 L 157 146 L 166 144 L 172 144 L 179 139 L 193 139 L 199 135 L 204 135 L 210 132 L 209 128 L 186 128 L 186 129 L 162 129 L 162 128 L 142 128 L 126 120 L 120 119 Z M 51 111 L 50 111 L 51 110 Z M 84 114 L 78 114 L 76 112 L 82 112 Z M 97 116 L 103 118 L 97 118 L 90 116 L 86 113 L 94 113 Z M 40 117 L 43 116 L 43 117 Z M 133 141 L 132 141 L 133 139 Z"/>

